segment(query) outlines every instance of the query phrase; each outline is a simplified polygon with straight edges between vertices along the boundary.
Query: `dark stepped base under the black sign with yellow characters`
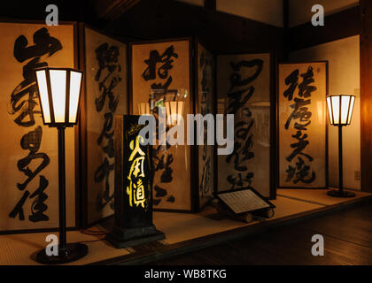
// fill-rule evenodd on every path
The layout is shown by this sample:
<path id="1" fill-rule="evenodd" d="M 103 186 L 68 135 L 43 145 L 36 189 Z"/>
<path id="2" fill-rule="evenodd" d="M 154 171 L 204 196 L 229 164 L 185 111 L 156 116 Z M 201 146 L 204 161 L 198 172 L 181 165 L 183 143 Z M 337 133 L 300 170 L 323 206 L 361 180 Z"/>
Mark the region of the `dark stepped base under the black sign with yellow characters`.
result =
<path id="1" fill-rule="evenodd" d="M 113 227 L 112 233 L 106 234 L 105 239 L 117 249 L 134 247 L 146 242 L 166 239 L 166 235 L 155 226 L 143 226 L 136 228 Z"/>

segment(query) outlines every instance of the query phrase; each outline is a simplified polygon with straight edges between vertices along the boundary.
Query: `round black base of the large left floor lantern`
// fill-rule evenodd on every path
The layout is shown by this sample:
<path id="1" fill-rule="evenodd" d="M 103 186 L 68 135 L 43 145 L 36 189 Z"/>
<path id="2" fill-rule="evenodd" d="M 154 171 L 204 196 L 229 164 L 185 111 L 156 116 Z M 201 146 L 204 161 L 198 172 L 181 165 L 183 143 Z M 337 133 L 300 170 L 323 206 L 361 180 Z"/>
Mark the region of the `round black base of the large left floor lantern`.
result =
<path id="1" fill-rule="evenodd" d="M 58 256 L 48 256 L 45 249 L 39 251 L 36 255 L 36 261 L 39 264 L 66 264 L 74 262 L 88 254 L 88 247 L 81 243 L 69 243 L 66 249 L 59 248 Z"/>

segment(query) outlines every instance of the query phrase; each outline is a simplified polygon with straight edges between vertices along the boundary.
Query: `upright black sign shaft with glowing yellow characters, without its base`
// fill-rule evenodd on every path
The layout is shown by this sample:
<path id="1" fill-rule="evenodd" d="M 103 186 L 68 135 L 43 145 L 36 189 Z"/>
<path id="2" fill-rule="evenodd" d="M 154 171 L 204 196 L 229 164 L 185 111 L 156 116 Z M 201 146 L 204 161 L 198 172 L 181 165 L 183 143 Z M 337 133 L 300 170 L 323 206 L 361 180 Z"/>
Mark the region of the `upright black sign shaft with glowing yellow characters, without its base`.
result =
<path id="1" fill-rule="evenodd" d="M 152 224 L 152 148 L 141 144 L 138 119 L 115 118 L 115 219 L 122 228 Z"/>

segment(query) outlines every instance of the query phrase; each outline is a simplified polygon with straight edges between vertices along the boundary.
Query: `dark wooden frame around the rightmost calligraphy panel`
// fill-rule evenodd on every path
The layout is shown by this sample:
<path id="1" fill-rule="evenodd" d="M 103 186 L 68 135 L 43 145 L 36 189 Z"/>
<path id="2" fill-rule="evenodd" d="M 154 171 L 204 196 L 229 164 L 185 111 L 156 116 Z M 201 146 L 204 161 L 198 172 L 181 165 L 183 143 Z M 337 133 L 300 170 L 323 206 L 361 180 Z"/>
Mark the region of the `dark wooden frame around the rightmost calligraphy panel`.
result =
<path id="1" fill-rule="evenodd" d="M 280 186 L 280 172 L 279 172 L 279 166 L 280 166 L 280 159 L 279 159 L 279 152 L 280 152 L 280 148 L 279 148 L 279 66 L 280 65 L 292 65 L 292 64 L 311 64 L 311 63 L 325 63 L 326 65 L 326 96 L 327 94 L 329 93 L 329 61 L 328 60 L 316 60 L 316 61 L 287 61 L 287 62 L 278 62 L 278 64 L 276 65 L 276 74 L 277 74 L 277 78 L 276 78 L 276 101 L 275 101 L 275 104 L 276 104 L 276 152 L 275 152 L 275 156 L 276 156 L 276 168 L 277 168 L 277 172 L 276 172 L 276 178 L 277 178 L 277 187 L 278 188 L 291 188 L 291 189 L 327 189 L 329 188 L 329 149 L 328 149 L 328 146 L 329 146 L 329 136 L 328 136 L 328 115 L 327 115 L 327 109 L 326 109 L 326 113 L 325 113 L 325 157 L 326 157 L 326 160 L 325 160 L 325 187 L 298 187 L 298 186 L 285 186 L 285 187 L 282 187 Z M 324 103 L 326 103 L 326 97 L 324 97 Z M 326 105 L 327 106 L 327 105 Z M 327 107 L 326 107 L 327 108 Z"/>

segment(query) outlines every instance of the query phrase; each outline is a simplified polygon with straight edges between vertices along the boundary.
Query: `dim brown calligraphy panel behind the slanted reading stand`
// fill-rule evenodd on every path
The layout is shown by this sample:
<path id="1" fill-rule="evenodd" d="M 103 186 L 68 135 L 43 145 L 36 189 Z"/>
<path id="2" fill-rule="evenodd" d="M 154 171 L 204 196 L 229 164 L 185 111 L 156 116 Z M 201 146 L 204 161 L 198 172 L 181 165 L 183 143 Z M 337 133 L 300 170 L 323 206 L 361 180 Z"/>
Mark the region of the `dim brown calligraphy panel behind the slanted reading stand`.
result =
<path id="1" fill-rule="evenodd" d="M 218 191 L 273 191 L 270 175 L 270 54 L 217 57 L 217 112 L 234 114 L 234 151 L 218 156 Z M 226 121 L 225 136 L 226 136 Z"/>

